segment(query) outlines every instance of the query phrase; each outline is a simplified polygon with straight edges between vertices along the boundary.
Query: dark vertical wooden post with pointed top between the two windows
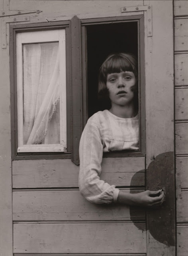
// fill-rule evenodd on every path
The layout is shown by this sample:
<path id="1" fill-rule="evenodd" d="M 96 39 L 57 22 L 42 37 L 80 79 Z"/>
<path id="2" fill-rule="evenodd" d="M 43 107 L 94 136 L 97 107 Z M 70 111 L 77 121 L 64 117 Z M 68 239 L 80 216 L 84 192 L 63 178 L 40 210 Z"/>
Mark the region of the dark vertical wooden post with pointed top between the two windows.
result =
<path id="1" fill-rule="evenodd" d="M 71 160 L 79 164 L 79 142 L 82 134 L 82 53 L 81 24 L 74 16 L 70 21 L 71 39 Z"/>

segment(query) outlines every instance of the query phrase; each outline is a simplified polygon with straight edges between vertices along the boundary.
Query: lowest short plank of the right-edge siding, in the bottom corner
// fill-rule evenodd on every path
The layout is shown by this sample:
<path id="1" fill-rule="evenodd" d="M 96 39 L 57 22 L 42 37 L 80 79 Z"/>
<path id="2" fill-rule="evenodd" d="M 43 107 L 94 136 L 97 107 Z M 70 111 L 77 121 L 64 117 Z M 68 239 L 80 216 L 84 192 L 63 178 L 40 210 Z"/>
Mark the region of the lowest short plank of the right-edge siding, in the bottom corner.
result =
<path id="1" fill-rule="evenodd" d="M 188 224 L 177 226 L 177 255 L 188 255 Z"/>

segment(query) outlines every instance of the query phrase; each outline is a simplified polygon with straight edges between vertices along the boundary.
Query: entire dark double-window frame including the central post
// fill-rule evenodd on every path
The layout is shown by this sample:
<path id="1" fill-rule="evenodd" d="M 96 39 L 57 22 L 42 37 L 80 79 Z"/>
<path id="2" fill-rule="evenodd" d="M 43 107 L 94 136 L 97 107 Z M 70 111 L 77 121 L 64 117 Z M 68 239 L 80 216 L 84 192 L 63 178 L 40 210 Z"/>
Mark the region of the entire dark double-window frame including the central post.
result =
<path id="1" fill-rule="evenodd" d="M 111 22 L 137 22 L 138 73 L 139 73 L 139 150 L 104 153 L 103 157 L 136 157 L 146 154 L 145 118 L 145 46 L 144 15 L 79 19 L 60 22 L 10 25 L 10 94 L 11 94 L 11 145 L 13 160 L 66 159 L 79 164 L 79 142 L 88 120 L 87 110 L 87 49 L 86 26 Z M 67 152 L 17 153 L 17 85 L 16 85 L 16 33 L 36 30 L 66 29 L 66 80 L 67 80 Z M 142 86 L 142 90 L 140 89 Z"/>

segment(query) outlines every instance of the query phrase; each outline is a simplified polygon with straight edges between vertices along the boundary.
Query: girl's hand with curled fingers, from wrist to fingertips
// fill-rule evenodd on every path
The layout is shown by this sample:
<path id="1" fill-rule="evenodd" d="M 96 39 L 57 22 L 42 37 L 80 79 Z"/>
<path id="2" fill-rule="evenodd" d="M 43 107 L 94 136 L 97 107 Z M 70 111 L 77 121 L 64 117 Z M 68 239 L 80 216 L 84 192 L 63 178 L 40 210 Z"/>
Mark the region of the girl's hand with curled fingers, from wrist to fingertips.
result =
<path id="1" fill-rule="evenodd" d="M 165 193 L 161 190 L 158 190 L 158 191 L 146 190 L 141 193 L 132 194 L 132 196 L 133 196 L 133 205 L 137 205 L 137 206 L 158 207 L 161 204 L 163 204 L 163 201 L 165 200 Z"/>

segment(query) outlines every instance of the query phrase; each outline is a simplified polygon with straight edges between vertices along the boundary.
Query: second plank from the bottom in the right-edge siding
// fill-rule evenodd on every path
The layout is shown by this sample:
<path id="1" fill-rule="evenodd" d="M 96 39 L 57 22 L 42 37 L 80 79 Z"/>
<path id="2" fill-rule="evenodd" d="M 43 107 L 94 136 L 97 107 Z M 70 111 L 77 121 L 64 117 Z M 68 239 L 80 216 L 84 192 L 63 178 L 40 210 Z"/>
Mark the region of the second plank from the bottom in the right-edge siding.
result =
<path id="1" fill-rule="evenodd" d="M 188 190 L 183 190 L 181 196 L 176 201 L 177 222 L 188 222 Z"/>

